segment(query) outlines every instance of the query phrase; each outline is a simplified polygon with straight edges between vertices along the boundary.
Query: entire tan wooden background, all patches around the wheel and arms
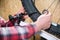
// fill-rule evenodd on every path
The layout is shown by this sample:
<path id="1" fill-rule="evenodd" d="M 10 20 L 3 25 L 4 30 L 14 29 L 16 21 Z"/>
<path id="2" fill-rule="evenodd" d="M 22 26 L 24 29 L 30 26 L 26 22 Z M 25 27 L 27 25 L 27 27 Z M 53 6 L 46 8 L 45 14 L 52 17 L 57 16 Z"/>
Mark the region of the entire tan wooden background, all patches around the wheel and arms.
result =
<path id="1" fill-rule="evenodd" d="M 42 12 L 44 9 L 53 3 L 54 0 L 35 0 L 35 5 L 39 12 Z M 8 20 L 8 15 L 14 15 L 19 12 L 22 7 L 20 0 L 0 0 L 0 16 L 5 20 Z M 52 22 L 60 24 L 60 0 L 55 0 L 55 2 L 48 9 L 52 13 Z M 30 18 L 26 19 L 26 22 L 31 23 Z M 40 39 L 40 36 L 36 35 L 36 40 Z M 29 40 L 33 40 L 33 37 Z"/>

